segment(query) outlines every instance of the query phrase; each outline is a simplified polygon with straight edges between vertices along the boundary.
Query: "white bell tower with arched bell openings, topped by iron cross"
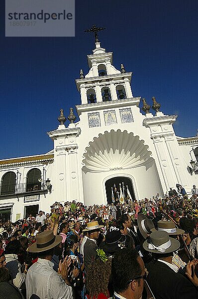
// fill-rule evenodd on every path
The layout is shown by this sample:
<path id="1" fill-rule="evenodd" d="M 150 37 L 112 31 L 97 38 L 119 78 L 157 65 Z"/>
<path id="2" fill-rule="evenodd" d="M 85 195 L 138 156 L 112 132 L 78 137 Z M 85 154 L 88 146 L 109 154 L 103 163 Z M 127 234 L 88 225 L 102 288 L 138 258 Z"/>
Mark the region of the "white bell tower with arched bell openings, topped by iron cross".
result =
<path id="1" fill-rule="evenodd" d="M 106 52 L 100 46 L 98 31 L 103 29 L 105 28 L 93 26 L 86 30 L 86 32 L 95 33 L 95 49 L 92 55 L 87 56 L 90 68 L 88 74 L 84 76 L 84 72 L 81 70 L 80 79 L 76 80 L 82 105 L 96 104 L 94 110 L 99 109 L 99 103 L 133 98 L 130 86 L 132 73 L 127 73 L 123 64 L 121 64 L 120 70 L 117 70 L 112 64 L 113 53 Z M 77 106 L 78 113 L 80 113 L 79 108 L 80 105 Z"/>

